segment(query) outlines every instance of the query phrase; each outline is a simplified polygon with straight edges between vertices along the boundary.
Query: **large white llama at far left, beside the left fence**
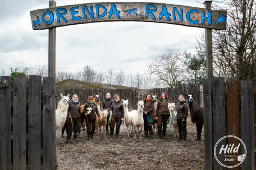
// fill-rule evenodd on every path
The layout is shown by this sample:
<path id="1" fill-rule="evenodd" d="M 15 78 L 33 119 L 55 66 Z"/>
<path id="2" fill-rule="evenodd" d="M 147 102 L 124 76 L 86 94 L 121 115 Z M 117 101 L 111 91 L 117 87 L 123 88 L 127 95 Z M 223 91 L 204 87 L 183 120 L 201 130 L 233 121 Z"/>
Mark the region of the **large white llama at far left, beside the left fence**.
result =
<path id="1" fill-rule="evenodd" d="M 61 100 L 58 104 L 58 108 L 55 111 L 55 126 L 56 129 L 61 129 L 67 118 L 67 109 L 68 103 L 70 102 L 69 94 L 67 96 L 63 96 L 61 94 Z"/>

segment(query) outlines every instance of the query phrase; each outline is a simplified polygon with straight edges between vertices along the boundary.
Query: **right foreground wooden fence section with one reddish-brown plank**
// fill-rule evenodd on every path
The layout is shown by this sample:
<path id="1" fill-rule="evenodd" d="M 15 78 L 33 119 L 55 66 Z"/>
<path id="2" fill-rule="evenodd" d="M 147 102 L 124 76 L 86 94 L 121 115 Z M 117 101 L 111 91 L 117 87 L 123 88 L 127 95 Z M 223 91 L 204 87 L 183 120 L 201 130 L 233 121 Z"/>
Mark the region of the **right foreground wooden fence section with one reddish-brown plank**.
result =
<path id="1" fill-rule="evenodd" d="M 224 78 L 204 79 L 205 170 L 226 169 L 216 161 L 213 148 L 221 137 L 227 135 L 241 138 L 247 148 L 241 169 L 254 169 L 254 91 L 253 80 L 241 80 L 239 88 L 238 79 L 227 79 L 226 82 Z M 226 143 L 224 140 L 222 142 L 225 146 L 234 143 L 230 139 Z M 218 160 L 224 160 L 223 156 Z M 237 162 L 230 161 L 227 166 L 236 164 Z M 231 169 L 239 170 L 239 168 L 240 166 Z"/>

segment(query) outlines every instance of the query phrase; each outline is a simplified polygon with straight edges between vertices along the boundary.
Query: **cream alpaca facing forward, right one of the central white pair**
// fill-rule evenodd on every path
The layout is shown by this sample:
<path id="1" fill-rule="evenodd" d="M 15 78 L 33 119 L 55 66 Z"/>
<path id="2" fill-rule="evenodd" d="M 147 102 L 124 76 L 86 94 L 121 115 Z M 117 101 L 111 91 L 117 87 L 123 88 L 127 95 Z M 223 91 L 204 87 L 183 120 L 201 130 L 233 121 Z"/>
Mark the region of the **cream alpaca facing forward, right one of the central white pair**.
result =
<path id="1" fill-rule="evenodd" d="M 141 138 L 141 131 L 142 127 L 144 125 L 143 120 L 143 108 L 144 108 L 144 102 L 140 100 L 138 103 L 138 110 L 137 112 L 132 116 L 132 126 L 134 127 L 134 139 L 136 139 L 137 134 Z"/>

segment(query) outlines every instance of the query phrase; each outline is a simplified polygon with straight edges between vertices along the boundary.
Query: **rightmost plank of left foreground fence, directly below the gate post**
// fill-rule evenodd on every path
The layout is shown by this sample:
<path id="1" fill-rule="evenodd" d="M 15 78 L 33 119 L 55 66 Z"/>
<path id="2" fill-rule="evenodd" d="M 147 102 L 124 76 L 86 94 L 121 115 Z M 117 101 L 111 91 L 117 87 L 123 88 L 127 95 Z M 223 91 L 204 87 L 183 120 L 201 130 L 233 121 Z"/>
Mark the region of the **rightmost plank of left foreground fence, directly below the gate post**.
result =
<path id="1" fill-rule="evenodd" d="M 55 127 L 55 78 L 44 77 L 43 88 L 43 162 L 44 170 L 55 169 L 55 147 L 54 147 L 54 127 Z"/>

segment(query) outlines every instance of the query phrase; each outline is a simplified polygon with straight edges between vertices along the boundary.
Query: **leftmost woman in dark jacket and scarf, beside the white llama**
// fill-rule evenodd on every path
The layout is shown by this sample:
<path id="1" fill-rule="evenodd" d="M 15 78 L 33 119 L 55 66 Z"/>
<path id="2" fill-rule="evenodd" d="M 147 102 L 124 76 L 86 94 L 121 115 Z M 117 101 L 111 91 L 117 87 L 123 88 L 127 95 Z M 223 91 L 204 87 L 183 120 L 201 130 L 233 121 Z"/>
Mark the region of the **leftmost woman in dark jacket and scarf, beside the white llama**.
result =
<path id="1" fill-rule="evenodd" d="M 74 132 L 74 141 L 78 141 L 77 134 L 79 131 L 79 122 L 81 119 L 80 102 L 78 101 L 78 96 L 76 94 L 72 96 L 72 100 L 69 102 L 68 105 L 69 107 L 67 112 L 67 142 L 72 143 L 72 132 Z"/>

